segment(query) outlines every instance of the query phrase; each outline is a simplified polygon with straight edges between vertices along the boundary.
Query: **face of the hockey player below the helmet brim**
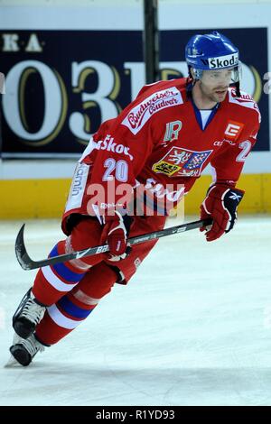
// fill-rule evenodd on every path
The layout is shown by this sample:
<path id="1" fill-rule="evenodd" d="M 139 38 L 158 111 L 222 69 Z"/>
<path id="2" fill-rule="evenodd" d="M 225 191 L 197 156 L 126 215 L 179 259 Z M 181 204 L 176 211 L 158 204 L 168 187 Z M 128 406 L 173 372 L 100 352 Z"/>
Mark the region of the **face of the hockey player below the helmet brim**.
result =
<path id="1" fill-rule="evenodd" d="M 213 102 L 222 102 L 232 82 L 232 69 L 204 70 L 200 81 L 201 93 Z"/>

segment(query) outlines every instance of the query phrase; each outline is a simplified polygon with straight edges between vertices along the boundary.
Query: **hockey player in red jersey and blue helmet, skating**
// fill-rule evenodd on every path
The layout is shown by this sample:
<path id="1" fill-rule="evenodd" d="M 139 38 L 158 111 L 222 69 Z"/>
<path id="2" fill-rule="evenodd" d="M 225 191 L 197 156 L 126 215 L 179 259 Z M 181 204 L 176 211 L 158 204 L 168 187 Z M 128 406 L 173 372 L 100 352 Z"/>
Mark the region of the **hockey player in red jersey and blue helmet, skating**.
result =
<path id="1" fill-rule="evenodd" d="M 67 238 L 50 255 L 106 242 L 110 252 L 38 271 L 13 318 L 10 352 L 19 364 L 68 335 L 115 282 L 130 280 L 156 241 L 129 252 L 128 235 L 163 229 L 167 201 L 174 207 L 208 163 L 215 176 L 201 204 L 201 218 L 213 219 L 203 228 L 207 241 L 234 226 L 244 195 L 236 184 L 256 143 L 258 107 L 239 90 L 238 49 L 219 32 L 193 36 L 185 57 L 188 78 L 142 88 L 101 124 L 79 160 L 62 218 Z M 133 210 L 140 197 L 142 213 Z"/>

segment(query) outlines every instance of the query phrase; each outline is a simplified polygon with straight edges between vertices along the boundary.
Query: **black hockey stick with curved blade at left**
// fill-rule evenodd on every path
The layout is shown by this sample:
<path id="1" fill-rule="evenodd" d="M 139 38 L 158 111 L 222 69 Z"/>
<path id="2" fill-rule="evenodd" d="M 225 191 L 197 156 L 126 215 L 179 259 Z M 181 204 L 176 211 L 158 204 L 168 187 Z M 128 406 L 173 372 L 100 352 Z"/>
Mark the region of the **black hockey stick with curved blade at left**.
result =
<path id="1" fill-rule="evenodd" d="M 181 226 L 172 226 L 169 228 L 165 228 L 161 231 L 154 231 L 153 233 L 147 233 L 145 235 L 137 235 L 135 237 L 129 238 L 128 243 L 130 245 L 133 245 L 148 242 L 150 240 L 154 240 L 155 238 L 165 237 L 166 235 L 183 233 L 184 231 L 189 231 L 194 228 L 200 228 L 201 226 L 210 226 L 211 223 L 211 218 L 200 221 L 188 222 L 186 224 L 182 224 Z M 85 256 L 91 256 L 92 254 L 105 253 L 109 250 L 108 244 L 104 244 L 100 246 L 89 247 L 88 249 L 79 250 L 78 252 L 60 254 L 58 256 L 42 259 L 41 261 L 33 261 L 26 252 L 23 240 L 24 226 L 25 224 L 23 224 L 22 228 L 20 229 L 15 242 L 16 257 L 18 263 L 20 263 L 23 270 L 34 270 L 36 268 L 42 268 L 42 266 L 53 265 L 55 263 L 64 263 L 72 259 L 79 259 Z"/>

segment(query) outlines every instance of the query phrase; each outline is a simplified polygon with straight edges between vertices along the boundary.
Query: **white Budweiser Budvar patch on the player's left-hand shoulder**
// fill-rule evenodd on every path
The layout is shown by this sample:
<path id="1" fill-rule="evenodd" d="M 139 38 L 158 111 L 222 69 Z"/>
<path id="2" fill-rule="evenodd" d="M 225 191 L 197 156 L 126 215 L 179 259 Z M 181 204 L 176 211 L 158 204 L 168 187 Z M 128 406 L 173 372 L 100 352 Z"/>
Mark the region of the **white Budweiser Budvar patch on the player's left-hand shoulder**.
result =
<path id="1" fill-rule="evenodd" d="M 122 124 L 126 125 L 131 133 L 135 135 L 154 114 L 166 107 L 182 105 L 182 103 L 181 93 L 175 87 L 157 91 L 145 98 L 139 105 L 133 107 L 122 121 Z"/>

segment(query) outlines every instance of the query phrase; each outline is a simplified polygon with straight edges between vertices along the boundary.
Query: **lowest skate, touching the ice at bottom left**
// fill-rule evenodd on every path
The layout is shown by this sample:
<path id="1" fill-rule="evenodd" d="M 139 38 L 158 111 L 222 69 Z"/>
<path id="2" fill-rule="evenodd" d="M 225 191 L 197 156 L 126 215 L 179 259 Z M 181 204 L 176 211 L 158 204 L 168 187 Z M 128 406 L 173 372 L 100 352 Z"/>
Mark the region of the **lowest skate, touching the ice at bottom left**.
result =
<path id="1" fill-rule="evenodd" d="M 43 352 L 44 346 L 36 339 L 34 335 L 28 337 L 27 340 L 24 338 L 14 335 L 14 344 L 9 348 L 12 358 L 9 360 L 6 366 L 13 365 L 15 363 L 23 366 L 29 365 L 34 355 L 38 352 Z M 15 359 L 15 361 L 14 361 Z"/>

